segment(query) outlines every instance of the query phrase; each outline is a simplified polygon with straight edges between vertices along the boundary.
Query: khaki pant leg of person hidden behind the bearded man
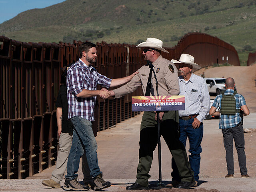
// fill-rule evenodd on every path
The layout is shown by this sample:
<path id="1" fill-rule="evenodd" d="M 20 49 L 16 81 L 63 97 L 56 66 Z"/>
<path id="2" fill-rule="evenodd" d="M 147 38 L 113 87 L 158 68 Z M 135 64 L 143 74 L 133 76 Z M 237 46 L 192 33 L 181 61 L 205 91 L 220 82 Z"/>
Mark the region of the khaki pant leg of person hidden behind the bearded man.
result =
<path id="1" fill-rule="evenodd" d="M 72 145 L 72 136 L 69 133 L 61 133 L 56 168 L 52 172 L 52 180 L 60 183 L 67 168 L 68 155 Z"/>

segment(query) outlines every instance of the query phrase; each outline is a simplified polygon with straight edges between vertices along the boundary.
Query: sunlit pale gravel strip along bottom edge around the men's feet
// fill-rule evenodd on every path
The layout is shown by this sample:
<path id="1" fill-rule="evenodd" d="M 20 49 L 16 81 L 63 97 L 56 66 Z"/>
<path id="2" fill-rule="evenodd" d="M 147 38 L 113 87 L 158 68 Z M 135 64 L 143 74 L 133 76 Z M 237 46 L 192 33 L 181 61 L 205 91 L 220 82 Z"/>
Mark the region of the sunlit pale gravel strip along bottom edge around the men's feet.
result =
<path id="1" fill-rule="evenodd" d="M 110 179 L 112 186 L 102 191 L 122 192 L 125 191 L 126 186 L 134 182 L 133 179 Z M 156 180 L 151 180 L 150 183 L 155 183 Z M 164 180 L 164 183 L 169 183 L 170 179 Z M 176 188 L 162 188 L 154 190 L 154 192 L 255 192 L 256 178 L 208 178 L 200 180 L 199 186 L 193 189 L 176 189 Z M 64 182 L 61 183 L 62 185 Z M 40 179 L 26 179 L 26 180 L 0 180 L 1 192 L 62 192 L 62 188 L 52 189 L 42 185 Z M 93 190 L 89 190 L 92 192 Z M 136 190 L 134 192 L 146 192 L 148 190 Z M 127 192 L 127 191 L 126 191 Z"/>

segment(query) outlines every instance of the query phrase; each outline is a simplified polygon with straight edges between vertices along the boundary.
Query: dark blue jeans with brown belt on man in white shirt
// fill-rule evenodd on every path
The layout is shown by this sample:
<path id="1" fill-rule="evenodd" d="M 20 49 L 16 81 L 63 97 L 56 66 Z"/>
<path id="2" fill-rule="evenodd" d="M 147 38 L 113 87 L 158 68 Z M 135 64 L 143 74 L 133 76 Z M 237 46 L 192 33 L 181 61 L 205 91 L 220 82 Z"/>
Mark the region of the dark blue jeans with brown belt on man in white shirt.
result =
<path id="1" fill-rule="evenodd" d="M 188 156 L 192 170 L 194 171 L 194 179 L 199 180 L 199 169 L 200 169 L 200 153 L 202 152 L 201 142 L 204 133 L 203 123 L 200 124 L 199 128 L 194 129 L 192 123 L 194 118 L 189 120 L 180 119 L 180 141 L 186 146 L 186 140 L 189 141 L 190 155 Z"/>

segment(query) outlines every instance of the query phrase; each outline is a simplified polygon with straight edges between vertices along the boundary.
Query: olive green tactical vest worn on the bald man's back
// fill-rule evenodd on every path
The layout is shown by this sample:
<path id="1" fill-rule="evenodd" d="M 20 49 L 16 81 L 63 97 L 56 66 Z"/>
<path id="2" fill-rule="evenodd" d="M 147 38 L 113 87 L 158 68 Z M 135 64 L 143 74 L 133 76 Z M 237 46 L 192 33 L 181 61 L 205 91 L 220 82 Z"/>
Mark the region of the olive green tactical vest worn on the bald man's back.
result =
<path id="1" fill-rule="evenodd" d="M 235 115 L 236 113 L 240 113 L 240 109 L 236 109 L 236 98 L 235 91 L 232 95 L 225 95 L 222 93 L 222 99 L 220 104 L 220 113 L 223 115 Z"/>

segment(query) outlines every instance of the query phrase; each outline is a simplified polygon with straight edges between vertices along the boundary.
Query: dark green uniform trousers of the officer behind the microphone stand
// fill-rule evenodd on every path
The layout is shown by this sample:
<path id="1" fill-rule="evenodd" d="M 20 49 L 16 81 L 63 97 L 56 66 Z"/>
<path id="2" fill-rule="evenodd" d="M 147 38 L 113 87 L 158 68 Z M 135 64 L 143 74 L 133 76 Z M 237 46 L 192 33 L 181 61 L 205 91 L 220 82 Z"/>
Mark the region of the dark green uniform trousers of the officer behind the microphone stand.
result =
<path id="1" fill-rule="evenodd" d="M 181 180 L 184 182 L 193 182 L 193 171 L 188 162 L 185 147 L 179 140 L 178 123 L 173 119 L 164 120 L 160 123 L 160 134 L 163 136 L 174 160 L 177 162 L 178 173 Z M 153 160 L 153 152 L 157 144 L 157 125 L 141 129 L 136 183 L 142 186 L 148 185 L 148 179 L 150 178 L 148 173 Z"/>

